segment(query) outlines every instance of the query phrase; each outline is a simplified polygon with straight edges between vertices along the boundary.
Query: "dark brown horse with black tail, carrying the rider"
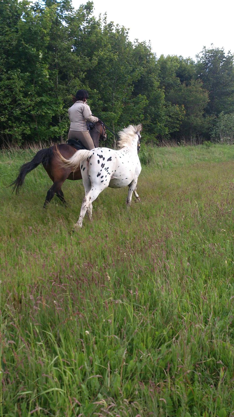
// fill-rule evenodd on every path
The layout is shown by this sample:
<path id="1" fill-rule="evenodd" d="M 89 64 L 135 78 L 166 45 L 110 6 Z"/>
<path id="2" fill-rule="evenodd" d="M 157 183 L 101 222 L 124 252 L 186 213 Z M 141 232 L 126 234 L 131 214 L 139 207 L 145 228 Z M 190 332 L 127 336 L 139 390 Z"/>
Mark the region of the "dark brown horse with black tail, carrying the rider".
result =
<path id="1" fill-rule="evenodd" d="M 95 123 L 93 129 L 90 131 L 90 135 L 92 137 L 93 143 L 95 148 L 99 146 L 99 139 L 106 138 L 106 131 L 105 127 L 101 122 Z M 19 175 L 13 181 L 10 186 L 13 186 L 13 192 L 15 191 L 16 194 L 19 193 L 20 188 L 23 186 L 25 176 L 27 173 L 32 171 L 36 168 L 40 163 L 42 163 L 45 171 L 47 172 L 50 179 L 53 181 L 52 187 L 47 192 L 47 196 L 45 198 L 44 208 L 50 203 L 50 200 L 53 196 L 57 195 L 58 198 L 62 201 L 62 203 L 66 204 L 63 192 L 62 192 L 62 184 L 65 180 L 81 180 L 82 175 L 80 172 L 80 168 L 77 168 L 75 171 L 72 171 L 72 168 L 67 168 L 65 165 L 61 166 L 61 160 L 57 155 L 57 149 L 60 151 L 61 155 L 69 159 L 74 153 L 77 151 L 73 146 L 67 144 L 61 145 L 54 145 L 50 146 L 50 148 L 41 149 L 36 153 L 32 161 L 25 163 L 21 166 Z"/>

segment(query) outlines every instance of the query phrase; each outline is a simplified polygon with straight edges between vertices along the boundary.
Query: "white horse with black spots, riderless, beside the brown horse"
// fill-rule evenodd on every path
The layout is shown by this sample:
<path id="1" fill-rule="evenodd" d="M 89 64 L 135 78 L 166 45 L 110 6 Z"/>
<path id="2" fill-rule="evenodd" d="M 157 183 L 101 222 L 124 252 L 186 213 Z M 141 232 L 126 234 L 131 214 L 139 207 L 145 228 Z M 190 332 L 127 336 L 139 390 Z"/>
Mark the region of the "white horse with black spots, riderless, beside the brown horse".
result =
<path id="1" fill-rule="evenodd" d="M 132 193 L 139 201 L 137 179 L 141 172 L 138 157 L 142 124 L 129 125 L 119 132 L 118 150 L 95 148 L 91 151 L 77 151 L 70 159 L 65 159 L 58 151 L 60 159 L 74 170 L 80 166 L 85 188 L 80 217 L 75 224 L 82 227 L 87 214 L 92 219 L 92 202 L 107 187 L 122 188 L 128 186 L 127 205 L 132 201 Z"/>

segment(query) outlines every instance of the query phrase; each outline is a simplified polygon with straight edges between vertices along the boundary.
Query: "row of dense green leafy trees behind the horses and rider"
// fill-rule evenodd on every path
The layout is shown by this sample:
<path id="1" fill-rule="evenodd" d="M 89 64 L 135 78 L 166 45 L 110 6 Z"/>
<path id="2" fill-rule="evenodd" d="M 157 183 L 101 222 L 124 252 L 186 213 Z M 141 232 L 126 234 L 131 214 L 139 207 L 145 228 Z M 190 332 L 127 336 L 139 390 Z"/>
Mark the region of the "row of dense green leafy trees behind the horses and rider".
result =
<path id="1" fill-rule="evenodd" d="M 75 10 L 70 0 L 2 0 L 0 145 L 66 140 L 80 88 L 114 131 L 140 122 L 153 143 L 233 139 L 233 63 L 213 45 L 196 62 L 157 58 L 106 15 L 95 18 L 90 1 Z"/>

